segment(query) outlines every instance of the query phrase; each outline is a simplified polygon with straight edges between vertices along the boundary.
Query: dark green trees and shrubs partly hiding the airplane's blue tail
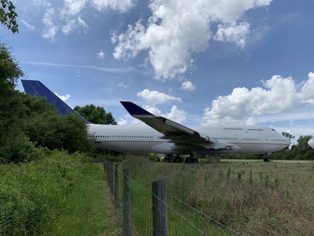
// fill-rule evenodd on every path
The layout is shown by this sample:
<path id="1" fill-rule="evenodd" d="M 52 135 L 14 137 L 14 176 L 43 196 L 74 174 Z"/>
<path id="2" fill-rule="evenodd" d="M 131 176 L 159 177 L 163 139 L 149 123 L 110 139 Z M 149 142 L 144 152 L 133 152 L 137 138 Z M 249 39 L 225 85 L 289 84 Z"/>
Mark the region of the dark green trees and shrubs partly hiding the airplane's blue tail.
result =
<path id="1" fill-rule="evenodd" d="M 12 50 L 0 42 L 0 162 L 31 161 L 36 147 L 94 151 L 87 125 L 76 116 L 60 117 L 45 98 L 14 90 L 24 76 Z"/>

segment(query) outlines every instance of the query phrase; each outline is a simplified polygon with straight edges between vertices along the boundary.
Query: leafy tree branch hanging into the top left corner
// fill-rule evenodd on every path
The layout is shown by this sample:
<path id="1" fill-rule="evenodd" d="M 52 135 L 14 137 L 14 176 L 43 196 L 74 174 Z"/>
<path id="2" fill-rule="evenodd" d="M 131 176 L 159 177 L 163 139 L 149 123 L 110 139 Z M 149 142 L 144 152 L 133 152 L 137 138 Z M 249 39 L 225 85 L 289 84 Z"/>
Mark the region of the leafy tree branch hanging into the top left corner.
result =
<path id="1" fill-rule="evenodd" d="M 1 24 L 11 29 L 12 33 L 19 32 L 19 25 L 16 23 L 18 14 L 12 1 L 0 0 L 0 21 Z"/>

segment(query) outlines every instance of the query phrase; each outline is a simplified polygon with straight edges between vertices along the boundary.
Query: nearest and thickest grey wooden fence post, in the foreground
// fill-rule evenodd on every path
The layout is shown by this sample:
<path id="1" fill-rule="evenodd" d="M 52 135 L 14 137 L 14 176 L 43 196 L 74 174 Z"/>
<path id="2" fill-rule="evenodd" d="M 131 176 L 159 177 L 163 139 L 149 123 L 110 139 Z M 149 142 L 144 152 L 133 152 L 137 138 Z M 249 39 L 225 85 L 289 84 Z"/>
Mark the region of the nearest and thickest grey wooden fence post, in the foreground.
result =
<path id="1" fill-rule="evenodd" d="M 167 236 L 167 178 L 151 184 L 153 199 L 153 236 Z"/>

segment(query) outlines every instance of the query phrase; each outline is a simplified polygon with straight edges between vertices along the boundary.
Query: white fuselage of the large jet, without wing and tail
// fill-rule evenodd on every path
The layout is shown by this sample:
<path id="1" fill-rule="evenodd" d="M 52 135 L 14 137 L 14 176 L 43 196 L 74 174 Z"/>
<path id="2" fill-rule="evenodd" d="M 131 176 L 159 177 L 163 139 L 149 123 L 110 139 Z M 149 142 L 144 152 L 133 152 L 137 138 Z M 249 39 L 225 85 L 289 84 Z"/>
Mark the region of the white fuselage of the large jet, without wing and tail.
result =
<path id="1" fill-rule="evenodd" d="M 160 139 L 162 133 L 149 126 L 88 124 L 97 148 L 129 153 L 189 154 L 190 149 L 175 149 L 171 140 Z M 229 149 L 206 149 L 194 146 L 195 154 L 256 154 L 287 147 L 290 141 L 267 126 L 204 125 L 196 130 Z"/>

